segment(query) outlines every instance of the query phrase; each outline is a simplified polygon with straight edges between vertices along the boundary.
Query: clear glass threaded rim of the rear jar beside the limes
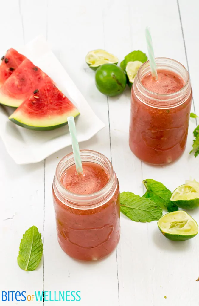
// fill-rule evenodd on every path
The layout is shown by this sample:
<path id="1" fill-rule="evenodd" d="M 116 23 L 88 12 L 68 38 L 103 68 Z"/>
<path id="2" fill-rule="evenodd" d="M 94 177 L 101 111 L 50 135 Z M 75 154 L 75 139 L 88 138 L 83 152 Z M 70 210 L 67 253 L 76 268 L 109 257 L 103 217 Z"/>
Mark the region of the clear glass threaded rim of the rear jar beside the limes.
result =
<path id="1" fill-rule="evenodd" d="M 179 71 L 177 71 L 177 68 L 181 69 L 184 73 L 184 77 L 183 77 L 184 86 L 182 88 L 180 88 L 179 91 L 172 92 L 172 93 L 167 93 L 167 94 L 159 94 L 159 93 L 156 93 L 156 92 L 153 92 L 153 91 L 150 91 L 149 89 L 147 89 L 141 82 L 142 77 L 145 75 L 145 74 L 143 74 L 143 76 L 142 76 L 141 74 L 143 73 L 144 69 L 147 69 L 148 67 L 150 67 L 150 62 L 147 61 L 139 67 L 136 78 L 135 78 L 135 81 L 134 81 L 134 84 L 132 86 L 132 90 L 133 90 L 134 86 L 136 86 L 137 88 L 139 88 L 140 93 L 142 93 L 142 92 L 144 93 L 145 98 L 147 98 L 149 100 L 154 99 L 156 101 L 156 104 L 150 103 L 149 101 L 148 101 L 148 103 L 146 103 L 146 101 L 143 101 L 144 99 L 141 99 L 143 103 L 145 103 L 149 106 L 153 106 L 155 108 L 160 108 L 160 107 L 171 108 L 171 107 L 179 106 L 180 104 L 182 104 L 184 102 L 183 98 L 187 95 L 187 93 L 189 91 L 191 92 L 189 72 L 187 71 L 186 67 L 183 64 L 181 64 L 180 62 L 178 62 L 178 61 L 176 61 L 172 58 L 158 57 L 158 58 L 155 58 L 155 62 L 157 64 L 157 68 L 158 68 L 158 65 L 165 65 L 165 67 L 162 68 L 162 69 L 174 71 L 180 77 L 182 77 L 182 76 L 179 74 Z M 169 66 L 169 64 L 170 64 L 170 66 Z M 173 65 L 173 67 L 172 67 L 172 65 Z M 190 92 L 189 92 L 189 94 L 190 94 Z M 140 99 L 140 96 L 138 98 Z M 175 103 L 173 103 L 174 100 L 175 100 Z M 160 105 L 157 105 L 157 102 L 160 102 Z M 165 105 L 164 105 L 164 102 L 165 102 Z"/>

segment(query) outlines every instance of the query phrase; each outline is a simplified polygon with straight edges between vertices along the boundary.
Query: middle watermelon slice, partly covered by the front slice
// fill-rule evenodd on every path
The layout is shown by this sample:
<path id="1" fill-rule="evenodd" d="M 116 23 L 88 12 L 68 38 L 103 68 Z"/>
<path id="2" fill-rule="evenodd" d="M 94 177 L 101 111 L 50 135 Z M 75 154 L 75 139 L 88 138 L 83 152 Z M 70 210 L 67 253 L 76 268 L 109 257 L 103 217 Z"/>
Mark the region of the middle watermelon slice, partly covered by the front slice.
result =
<path id="1" fill-rule="evenodd" d="M 50 79 L 47 74 L 25 59 L 0 88 L 0 103 L 20 106 L 46 79 Z"/>

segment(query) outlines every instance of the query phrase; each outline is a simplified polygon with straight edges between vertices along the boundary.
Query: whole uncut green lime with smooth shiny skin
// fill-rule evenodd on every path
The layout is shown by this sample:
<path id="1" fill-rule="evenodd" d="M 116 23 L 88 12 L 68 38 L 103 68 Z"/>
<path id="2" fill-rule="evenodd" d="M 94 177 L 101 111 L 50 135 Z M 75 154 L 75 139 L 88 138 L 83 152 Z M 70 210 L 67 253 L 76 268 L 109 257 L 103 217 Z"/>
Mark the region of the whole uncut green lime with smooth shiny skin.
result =
<path id="1" fill-rule="evenodd" d="M 125 90 L 126 74 L 115 64 L 104 64 L 96 70 L 95 83 L 101 93 L 114 97 Z"/>

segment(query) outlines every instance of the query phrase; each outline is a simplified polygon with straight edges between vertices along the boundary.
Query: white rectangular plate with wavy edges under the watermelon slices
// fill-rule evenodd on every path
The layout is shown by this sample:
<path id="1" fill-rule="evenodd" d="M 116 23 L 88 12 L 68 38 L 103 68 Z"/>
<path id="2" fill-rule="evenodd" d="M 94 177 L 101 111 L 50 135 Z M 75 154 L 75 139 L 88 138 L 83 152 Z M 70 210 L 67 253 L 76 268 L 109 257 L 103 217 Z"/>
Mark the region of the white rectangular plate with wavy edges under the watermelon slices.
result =
<path id="1" fill-rule="evenodd" d="M 63 94 L 78 107 L 80 116 L 75 120 L 78 141 L 85 141 L 104 128 L 70 76 L 49 49 L 47 42 L 38 37 L 18 51 L 47 73 Z M 0 107 L 0 136 L 9 155 L 17 164 L 40 162 L 47 156 L 71 144 L 68 126 L 52 131 L 31 131 L 9 121 L 9 107 Z"/>

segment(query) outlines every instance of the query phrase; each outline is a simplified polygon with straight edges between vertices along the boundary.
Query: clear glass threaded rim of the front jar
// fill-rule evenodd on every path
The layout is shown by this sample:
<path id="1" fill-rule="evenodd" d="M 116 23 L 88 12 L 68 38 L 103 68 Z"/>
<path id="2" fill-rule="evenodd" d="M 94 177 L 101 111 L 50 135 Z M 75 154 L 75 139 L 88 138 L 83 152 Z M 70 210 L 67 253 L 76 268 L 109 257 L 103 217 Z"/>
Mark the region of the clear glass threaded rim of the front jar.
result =
<path id="1" fill-rule="evenodd" d="M 74 165 L 74 154 L 73 152 L 67 154 L 66 156 L 64 156 L 60 162 L 58 163 L 57 167 L 56 167 L 56 172 L 55 172 L 55 176 L 54 176 L 54 180 L 53 180 L 53 189 L 56 193 L 57 198 L 62 202 L 66 202 L 67 198 L 67 206 L 73 207 L 73 208 L 78 208 L 78 209 L 90 209 L 90 208 L 95 208 L 95 207 L 99 207 L 101 205 L 103 205 L 104 203 L 106 203 L 108 200 L 106 198 L 106 196 L 108 196 L 108 194 L 110 193 L 110 189 L 114 183 L 115 180 L 115 173 L 113 170 L 113 166 L 110 162 L 110 160 L 103 155 L 102 153 L 99 153 L 97 151 L 94 150 L 80 150 L 80 156 L 82 158 L 82 161 L 84 162 L 84 158 L 91 158 L 92 160 L 89 160 L 89 162 L 96 162 L 97 160 L 94 161 L 94 158 L 98 158 L 99 160 L 101 159 L 101 161 L 104 161 L 104 163 L 106 163 L 107 167 L 105 168 L 109 174 L 109 180 L 107 182 L 107 184 L 100 189 L 97 192 L 93 192 L 91 194 L 77 194 L 74 192 L 71 192 L 69 190 L 67 190 L 61 183 L 60 181 L 60 176 L 63 174 L 63 172 L 70 166 Z M 66 162 L 68 162 L 68 167 Z M 70 162 L 72 162 L 71 164 L 69 164 Z M 60 167 L 62 165 L 65 165 L 64 170 L 62 170 L 62 173 L 59 173 Z M 103 166 L 101 163 L 99 163 L 101 166 Z M 59 189 L 58 192 L 57 188 Z M 117 186 L 116 186 L 117 187 Z M 59 194 L 58 194 L 59 193 Z M 100 201 L 100 204 L 99 204 Z M 86 202 L 86 205 L 84 205 Z M 93 204 L 94 203 L 94 204 Z"/>

